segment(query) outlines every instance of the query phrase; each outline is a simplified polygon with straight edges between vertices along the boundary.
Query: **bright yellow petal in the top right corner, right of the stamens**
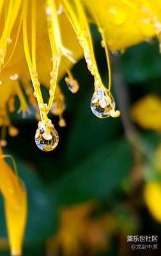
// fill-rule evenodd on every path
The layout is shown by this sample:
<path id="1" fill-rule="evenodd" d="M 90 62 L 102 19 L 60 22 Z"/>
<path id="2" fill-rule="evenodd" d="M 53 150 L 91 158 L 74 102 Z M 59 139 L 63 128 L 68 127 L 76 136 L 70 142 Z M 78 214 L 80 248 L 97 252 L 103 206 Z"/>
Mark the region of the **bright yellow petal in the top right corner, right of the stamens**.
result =
<path id="1" fill-rule="evenodd" d="M 83 0 L 86 5 L 86 0 Z M 141 0 L 104 0 L 88 1 L 89 11 L 95 12 L 105 29 L 105 37 L 111 51 L 125 49 L 138 44 L 146 38 L 158 35 L 160 22 L 159 1 Z M 87 6 L 87 8 L 88 8 Z M 93 17 L 95 22 L 95 17 Z"/>

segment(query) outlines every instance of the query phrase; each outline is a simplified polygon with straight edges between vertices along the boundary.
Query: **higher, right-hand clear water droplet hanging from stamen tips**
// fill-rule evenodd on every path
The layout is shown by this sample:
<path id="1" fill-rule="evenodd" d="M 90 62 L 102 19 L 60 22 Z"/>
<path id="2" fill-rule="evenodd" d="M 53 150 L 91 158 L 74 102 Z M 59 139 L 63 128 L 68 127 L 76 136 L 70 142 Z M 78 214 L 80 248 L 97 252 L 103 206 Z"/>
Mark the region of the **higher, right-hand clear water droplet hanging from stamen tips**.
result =
<path id="1" fill-rule="evenodd" d="M 110 102 L 109 102 L 110 101 Z M 115 108 L 114 99 L 106 88 L 99 87 L 91 99 L 91 111 L 98 118 L 111 116 L 110 110 Z"/>

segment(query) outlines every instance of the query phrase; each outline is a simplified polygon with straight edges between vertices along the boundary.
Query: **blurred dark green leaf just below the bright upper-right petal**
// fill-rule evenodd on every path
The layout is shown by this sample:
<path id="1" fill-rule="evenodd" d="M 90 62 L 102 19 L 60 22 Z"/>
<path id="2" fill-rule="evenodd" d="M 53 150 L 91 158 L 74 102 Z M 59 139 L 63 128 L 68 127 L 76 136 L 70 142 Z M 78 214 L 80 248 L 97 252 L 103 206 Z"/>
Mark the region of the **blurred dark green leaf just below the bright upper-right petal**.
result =
<path id="1" fill-rule="evenodd" d="M 144 42 L 130 47 L 118 61 L 127 83 L 146 83 L 161 78 L 158 44 Z"/>

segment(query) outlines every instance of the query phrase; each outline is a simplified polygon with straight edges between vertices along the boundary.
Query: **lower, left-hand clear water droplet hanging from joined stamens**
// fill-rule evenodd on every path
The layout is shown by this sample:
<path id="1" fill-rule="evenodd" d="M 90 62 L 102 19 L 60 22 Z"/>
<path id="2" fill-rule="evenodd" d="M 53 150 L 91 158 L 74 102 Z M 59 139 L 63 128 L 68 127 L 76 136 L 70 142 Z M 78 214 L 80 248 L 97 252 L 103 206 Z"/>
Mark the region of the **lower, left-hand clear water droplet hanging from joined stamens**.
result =
<path id="1" fill-rule="evenodd" d="M 35 134 L 35 143 L 38 148 L 48 152 L 56 148 L 58 142 L 59 136 L 54 125 L 49 124 L 49 127 L 46 127 L 45 123 L 40 121 Z"/>

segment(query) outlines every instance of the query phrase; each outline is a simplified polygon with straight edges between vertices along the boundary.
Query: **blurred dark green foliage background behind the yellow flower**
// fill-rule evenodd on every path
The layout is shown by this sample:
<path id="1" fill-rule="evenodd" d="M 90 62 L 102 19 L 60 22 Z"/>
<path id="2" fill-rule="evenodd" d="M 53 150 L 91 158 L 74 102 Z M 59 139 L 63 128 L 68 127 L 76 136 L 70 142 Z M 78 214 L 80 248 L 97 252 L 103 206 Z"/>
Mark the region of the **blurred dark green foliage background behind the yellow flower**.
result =
<path id="1" fill-rule="evenodd" d="M 100 74 L 107 84 L 104 49 L 100 47 L 100 36 L 96 28 L 91 29 Z M 37 122 L 32 113 L 26 115 L 25 119 L 21 118 L 21 114 L 11 114 L 13 125 L 19 127 L 19 135 L 15 138 L 7 136 L 8 145 L 4 148 L 4 153 L 15 158 L 19 175 L 27 188 L 28 216 L 24 256 L 160 255 L 159 242 L 157 250 L 132 250 L 131 243 L 127 242 L 127 236 L 130 235 L 154 235 L 158 236 L 158 241 L 161 235 L 161 225 L 151 216 L 142 197 L 147 177 L 141 175 L 140 169 L 135 168 L 139 156 L 139 166 L 146 166 L 152 173 L 149 176 L 153 175 L 151 156 L 160 143 L 160 134 L 144 131 L 134 124 L 129 111 L 137 100 L 148 93 L 161 96 L 161 57 L 158 43 L 144 42 L 126 49 L 122 56 L 111 55 L 111 63 L 112 95 L 116 99 L 116 108 L 121 110 L 121 116 L 102 120 L 91 113 L 93 77 L 89 74 L 85 61 L 79 61 L 72 70 L 80 84 L 79 92 L 72 95 L 65 82 L 61 81 L 66 99 L 64 117 L 67 126 L 59 127 L 57 116 L 50 116 L 59 133 L 59 145 L 53 152 L 41 152 L 36 147 L 34 134 Z M 47 97 L 45 89 L 43 95 Z M 32 110 L 31 106 L 30 109 Z M 137 136 L 136 143 L 133 143 L 131 135 L 126 136 L 128 131 Z M 87 206 L 89 211 L 84 214 L 86 221 L 86 218 L 79 221 L 79 209 L 73 210 L 72 217 L 69 215 L 66 222 L 62 221 L 61 213 L 64 209 L 72 211 L 75 205 L 82 205 L 86 209 L 88 202 L 91 206 Z M 8 245 L 4 246 L 5 243 L 2 243 L 2 238 L 6 238 L 7 234 L 1 196 L 0 212 L 0 255 L 7 256 L 10 255 Z M 103 218 L 105 225 L 98 223 L 98 228 L 92 228 L 92 223 Z M 74 219 L 77 219 L 75 224 Z M 79 222 L 82 225 L 87 222 L 93 237 L 97 237 L 96 232 L 99 231 L 106 241 L 103 243 L 104 239 L 100 238 L 100 244 L 99 239 L 95 243 L 95 239 L 82 238 L 81 234 L 73 232 L 71 237 L 75 237 L 81 244 L 77 253 L 73 253 L 71 248 L 71 254 L 67 253 L 67 249 L 65 254 L 66 243 L 70 248 L 66 237 L 59 242 L 53 238 L 53 244 L 49 246 L 47 241 L 50 237 L 57 237 L 62 228 L 70 234 L 68 227 L 77 226 Z M 77 228 L 79 226 L 75 227 Z M 49 247 L 52 248 L 51 252 Z M 74 244 L 72 247 L 75 247 Z"/>

